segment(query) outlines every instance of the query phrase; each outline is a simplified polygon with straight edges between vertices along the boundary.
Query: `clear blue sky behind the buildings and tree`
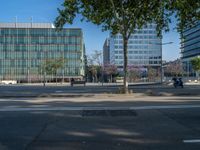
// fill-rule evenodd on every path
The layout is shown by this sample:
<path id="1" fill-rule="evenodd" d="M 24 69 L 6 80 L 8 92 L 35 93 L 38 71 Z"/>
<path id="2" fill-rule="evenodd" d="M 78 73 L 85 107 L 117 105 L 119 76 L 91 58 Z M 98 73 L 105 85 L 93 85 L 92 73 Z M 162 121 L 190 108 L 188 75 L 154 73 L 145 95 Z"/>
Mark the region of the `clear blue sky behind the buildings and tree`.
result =
<path id="1" fill-rule="evenodd" d="M 53 22 L 58 15 L 57 8 L 63 0 L 1 0 L 0 22 L 13 22 L 17 16 L 18 22 Z M 101 28 L 91 23 L 80 22 L 78 19 L 73 25 L 66 27 L 78 27 L 83 29 L 86 53 L 93 50 L 102 50 L 103 43 L 109 32 L 102 32 Z M 173 42 L 163 46 L 163 60 L 175 60 L 180 57 L 180 40 L 175 31 L 163 35 L 163 43 Z"/>

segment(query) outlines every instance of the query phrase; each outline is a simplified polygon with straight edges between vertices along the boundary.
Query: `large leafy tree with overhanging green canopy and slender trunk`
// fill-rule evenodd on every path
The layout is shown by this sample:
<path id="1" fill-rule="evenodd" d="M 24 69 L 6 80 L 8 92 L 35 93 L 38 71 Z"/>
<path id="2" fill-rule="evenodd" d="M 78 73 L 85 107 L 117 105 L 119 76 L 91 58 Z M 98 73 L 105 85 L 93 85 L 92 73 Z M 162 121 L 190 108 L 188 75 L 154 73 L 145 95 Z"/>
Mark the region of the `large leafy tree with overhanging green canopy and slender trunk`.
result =
<path id="1" fill-rule="evenodd" d="M 175 14 L 177 28 L 184 27 L 200 19 L 199 0 L 65 0 L 55 26 L 61 29 L 65 23 L 73 23 L 77 14 L 81 20 L 101 25 L 102 30 L 112 34 L 120 33 L 123 37 L 124 54 L 124 92 L 128 92 L 127 80 L 127 44 L 135 29 L 147 23 L 156 23 L 158 35 L 169 30 L 170 17 Z"/>

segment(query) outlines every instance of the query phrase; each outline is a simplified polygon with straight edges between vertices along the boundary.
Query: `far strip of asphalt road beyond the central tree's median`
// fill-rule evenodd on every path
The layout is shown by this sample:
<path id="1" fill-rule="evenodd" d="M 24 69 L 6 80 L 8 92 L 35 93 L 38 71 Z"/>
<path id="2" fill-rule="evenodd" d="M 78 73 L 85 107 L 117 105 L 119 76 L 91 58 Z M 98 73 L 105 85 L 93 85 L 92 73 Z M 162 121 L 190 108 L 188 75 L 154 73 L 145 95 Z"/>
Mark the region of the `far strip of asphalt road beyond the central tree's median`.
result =
<path id="1" fill-rule="evenodd" d="M 76 85 L 70 86 L 39 86 L 39 85 L 1 85 L 0 97 L 26 97 L 26 96 L 45 96 L 49 94 L 104 94 L 119 93 L 120 85 L 104 85 L 104 86 L 86 86 Z M 172 85 L 132 85 L 129 89 L 133 93 L 152 93 L 153 95 L 200 95 L 199 85 L 190 85 L 175 89 Z"/>

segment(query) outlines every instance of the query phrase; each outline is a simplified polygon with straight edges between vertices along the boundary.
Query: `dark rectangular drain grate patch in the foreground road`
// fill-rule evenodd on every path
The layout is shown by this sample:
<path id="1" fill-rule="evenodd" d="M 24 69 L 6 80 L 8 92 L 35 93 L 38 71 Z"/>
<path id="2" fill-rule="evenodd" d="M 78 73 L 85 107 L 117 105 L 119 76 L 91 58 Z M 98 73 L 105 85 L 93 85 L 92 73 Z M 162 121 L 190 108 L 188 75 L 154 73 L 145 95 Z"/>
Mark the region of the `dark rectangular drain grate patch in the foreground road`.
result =
<path id="1" fill-rule="evenodd" d="M 134 110 L 83 110 L 82 116 L 120 117 L 120 116 L 137 116 L 137 113 Z"/>

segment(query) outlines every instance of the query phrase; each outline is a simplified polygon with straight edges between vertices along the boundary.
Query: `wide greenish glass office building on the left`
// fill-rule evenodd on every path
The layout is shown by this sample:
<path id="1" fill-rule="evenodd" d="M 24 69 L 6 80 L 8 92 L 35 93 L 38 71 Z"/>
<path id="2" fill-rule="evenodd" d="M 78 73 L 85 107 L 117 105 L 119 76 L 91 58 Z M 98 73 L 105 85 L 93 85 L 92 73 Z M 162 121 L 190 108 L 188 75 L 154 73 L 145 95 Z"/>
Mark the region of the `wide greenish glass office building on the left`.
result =
<path id="1" fill-rule="evenodd" d="M 48 80 L 83 78 L 85 48 L 82 30 L 56 31 L 50 23 L 0 23 L 0 80 L 38 82 L 41 65 L 63 59 L 64 67 Z"/>

